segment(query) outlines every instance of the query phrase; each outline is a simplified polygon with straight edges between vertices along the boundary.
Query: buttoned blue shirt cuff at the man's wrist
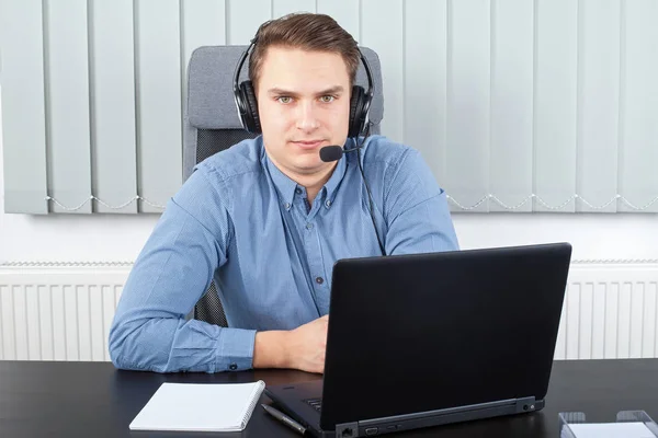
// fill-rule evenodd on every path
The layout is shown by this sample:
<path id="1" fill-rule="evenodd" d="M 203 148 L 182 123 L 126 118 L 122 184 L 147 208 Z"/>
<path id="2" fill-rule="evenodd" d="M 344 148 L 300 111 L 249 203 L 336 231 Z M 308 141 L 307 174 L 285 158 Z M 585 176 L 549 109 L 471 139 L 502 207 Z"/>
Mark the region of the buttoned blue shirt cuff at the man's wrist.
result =
<path id="1" fill-rule="evenodd" d="M 256 330 L 222 328 L 215 371 L 241 371 L 253 368 Z"/>

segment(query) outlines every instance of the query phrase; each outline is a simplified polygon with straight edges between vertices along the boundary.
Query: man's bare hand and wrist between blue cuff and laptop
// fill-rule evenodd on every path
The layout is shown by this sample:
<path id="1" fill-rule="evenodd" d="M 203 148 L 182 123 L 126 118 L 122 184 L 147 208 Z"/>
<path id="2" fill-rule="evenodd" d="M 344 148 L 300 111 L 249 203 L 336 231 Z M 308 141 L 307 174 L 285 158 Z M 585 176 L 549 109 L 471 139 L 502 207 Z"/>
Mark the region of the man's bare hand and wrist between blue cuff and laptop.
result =
<path id="1" fill-rule="evenodd" d="M 253 368 L 293 368 L 325 372 L 327 326 L 325 315 L 287 332 L 258 332 L 253 347 Z"/>

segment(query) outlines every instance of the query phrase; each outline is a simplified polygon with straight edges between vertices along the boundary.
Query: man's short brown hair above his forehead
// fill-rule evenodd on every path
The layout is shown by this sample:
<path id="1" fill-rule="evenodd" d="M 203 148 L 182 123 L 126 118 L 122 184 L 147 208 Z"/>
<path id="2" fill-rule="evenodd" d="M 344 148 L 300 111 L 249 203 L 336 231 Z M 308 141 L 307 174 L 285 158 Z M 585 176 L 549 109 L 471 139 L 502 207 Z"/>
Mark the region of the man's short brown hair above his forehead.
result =
<path id="1" fill-rule="evenodd" d="M 249 79 L 254 88 L 262 70 L 268 48 L 271 46 L 299 48 L 308 51 L 328 51 L 342 56 L 350 85 L 354 84 L 361 54 L 356 42 L 336 20 L 326 14 L 292 13 L 263 23 L 249 56 Z"/>

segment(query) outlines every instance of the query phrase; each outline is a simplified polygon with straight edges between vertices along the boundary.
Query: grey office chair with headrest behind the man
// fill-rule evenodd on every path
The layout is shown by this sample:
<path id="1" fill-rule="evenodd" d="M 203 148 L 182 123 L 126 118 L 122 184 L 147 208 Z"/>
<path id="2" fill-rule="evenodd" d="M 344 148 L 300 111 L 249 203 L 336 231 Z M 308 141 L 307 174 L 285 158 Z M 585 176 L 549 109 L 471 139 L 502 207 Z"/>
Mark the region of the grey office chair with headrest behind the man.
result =
<path id="1" fill-rule="evenodd" d="M 254 136 L 243 130 L 236 108 L 232 82 L 237 62 L 248 46 L 204 46 L 194 50 L 188 68 L 188 100 L 183 104 L 183 177 L 206 158 Z M 382 67 L 377 54 L 361 47 L 375 87 L 370 111 L 371 134 L 379 134 L 384 116 Z M 240 82 L 248 79 L 249 60 L 241 69 Z M 363 65 L 356 84 L 367 89 Z M 228 326 L 215 281 L 194 306 L 190 318 Z"/>

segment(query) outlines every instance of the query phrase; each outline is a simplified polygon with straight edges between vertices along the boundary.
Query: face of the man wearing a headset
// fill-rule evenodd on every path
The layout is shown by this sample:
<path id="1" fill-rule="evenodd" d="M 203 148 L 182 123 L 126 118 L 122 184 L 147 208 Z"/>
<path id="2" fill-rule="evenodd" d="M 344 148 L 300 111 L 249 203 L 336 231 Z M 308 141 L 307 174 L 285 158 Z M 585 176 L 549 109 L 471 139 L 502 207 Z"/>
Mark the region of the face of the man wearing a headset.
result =
<path id="1" fill-rule="evenodd" d="M 350 116 L 350 78 L 339 54 L 270 47 L 257 100 L 265 150 L 293 180 L 324 175 L 334 162 L 320 148 L 343 146 Z"/>

